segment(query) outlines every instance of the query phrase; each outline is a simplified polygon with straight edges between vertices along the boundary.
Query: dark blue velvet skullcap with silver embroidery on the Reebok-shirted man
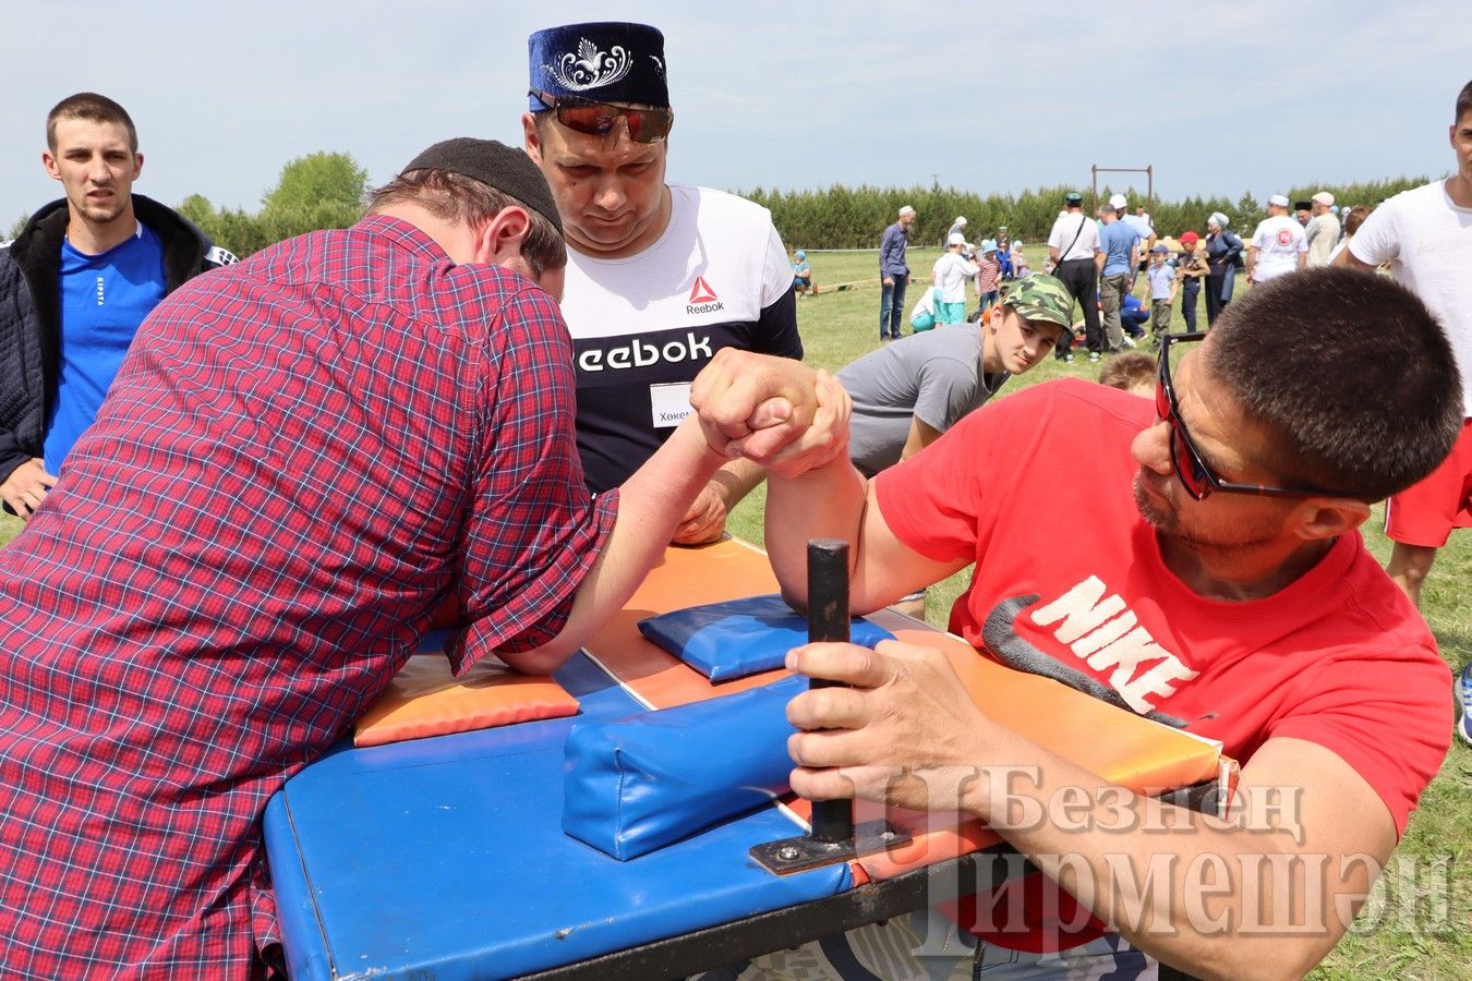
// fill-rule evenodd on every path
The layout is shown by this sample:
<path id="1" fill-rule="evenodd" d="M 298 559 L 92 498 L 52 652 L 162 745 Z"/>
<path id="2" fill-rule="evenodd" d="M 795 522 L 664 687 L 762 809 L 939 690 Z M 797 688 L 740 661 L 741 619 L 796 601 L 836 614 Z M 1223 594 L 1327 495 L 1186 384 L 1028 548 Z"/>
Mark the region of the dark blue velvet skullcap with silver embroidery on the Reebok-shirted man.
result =
<path id="1" fill-rule="evenodd" d="M 530 88 L 549 96 L 670 107 L 664 34 L 620 21 L 568 24 L 527 38 Z M 536 96 L 531 112 L 546 109 Z"/>

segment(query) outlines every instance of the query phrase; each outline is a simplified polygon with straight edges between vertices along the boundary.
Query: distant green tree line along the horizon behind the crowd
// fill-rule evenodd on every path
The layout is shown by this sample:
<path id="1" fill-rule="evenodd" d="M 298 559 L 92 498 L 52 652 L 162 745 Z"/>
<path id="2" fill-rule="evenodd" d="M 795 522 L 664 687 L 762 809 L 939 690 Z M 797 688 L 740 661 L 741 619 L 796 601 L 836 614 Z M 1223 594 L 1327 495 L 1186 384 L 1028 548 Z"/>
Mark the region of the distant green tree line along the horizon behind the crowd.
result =
<path id="1" fill-rule="evenodd" d="M 1288 199 L 1307 200 L 1316 191 L 1331 191 L 1341 206 L 1376 204 L 1393 194 L 1425 184 L 1429 178 L 1400 176 L 1388 181 L 1359 184 L 1312 184 L 1288 188 Z M 885 228 L 899 207 L 910 204 L 917 212 L 910 241 L 935 246 L 945 237 L 958 215 L 967 218 L 967 238 L 980 241 L 997 235 L 1005 225 L 1013 238 L 1027 243 L 1047 240 L 1054 219 L 1063 209 L 1063 196 L 1072 187 L 1025 190 L 1020 194 L 976 194 L 935 184 L 929 188 L 845 187 L 833 184 L 817 190 L 755 188 L 736 191 L 771 212 L 782 240 L 790 249 L 876 249 Z M 1145 203 L 1135 188 L 1100 190 L 1105 199 L 1123 191 L 1130 204 Z M 206 197 L 191 194 L 177 207 L 199 225 L 215 244 L 237 256 L 249 256 L 266 246 L 318 228 L 347 228 L 364 215 L 368 201 L 368 171 L 347 153 L 319 151 L 297 157 L 281 169 L 275 187 L 261 199 L 261 209 L 215 207 Z M 1089 206 L 1085 194 L 1085 206 Z M 1188 197 L 1151 204 L 1151 218 L 1160 234 L 1179 235 L 1188 228 L 1206 231 L 1211 212 L 1226 215 L 1232 228 L 1250 234 L 1267 216 L 1262 201 L 1251 193 L 1232 201 L 1228 197 Z M 7 238 L 25 225 L 21 218 Z"/>

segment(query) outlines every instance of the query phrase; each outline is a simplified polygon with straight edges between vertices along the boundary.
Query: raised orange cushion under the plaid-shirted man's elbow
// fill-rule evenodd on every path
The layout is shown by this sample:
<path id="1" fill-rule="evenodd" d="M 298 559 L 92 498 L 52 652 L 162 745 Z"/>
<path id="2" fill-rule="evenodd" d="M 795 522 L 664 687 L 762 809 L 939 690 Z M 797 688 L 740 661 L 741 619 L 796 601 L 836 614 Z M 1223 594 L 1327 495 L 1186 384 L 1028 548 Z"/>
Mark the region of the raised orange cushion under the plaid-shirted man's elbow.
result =
<path id="1" fill-rule="evenodd" d="M 577 713 L 552 678 L 521 675 L 486 659 L 462 678 L 443 653 L 415 654 L 353 727 L 353 746 L 383 746 Z"/>

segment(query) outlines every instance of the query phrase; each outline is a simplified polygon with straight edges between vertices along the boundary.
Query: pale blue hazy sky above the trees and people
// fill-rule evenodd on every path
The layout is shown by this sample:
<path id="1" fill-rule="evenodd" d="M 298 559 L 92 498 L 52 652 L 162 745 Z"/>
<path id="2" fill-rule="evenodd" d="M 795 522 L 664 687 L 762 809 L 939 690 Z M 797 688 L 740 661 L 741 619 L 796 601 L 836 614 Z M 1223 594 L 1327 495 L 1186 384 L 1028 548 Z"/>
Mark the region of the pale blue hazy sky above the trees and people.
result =
<path id="1" fill-rule="evenodd" d="M 1465 0 L 16 3 L 0 37 L 0 232 L 59 194 L 40 165 L 43 124 L 74 91 L 132 113 L 138 191 L 255 210 L 284 163 L 316 150 L 352 153 L 377 184 L 436 140 L 520 143 L 527 34 L 590 19 L 665 32 L 677 181 L 936 178 L 986 194 L 1153 165 L 1160 196 L 1235 200 L 1440 175 L 1472 72 L 1466 12 Z"/>

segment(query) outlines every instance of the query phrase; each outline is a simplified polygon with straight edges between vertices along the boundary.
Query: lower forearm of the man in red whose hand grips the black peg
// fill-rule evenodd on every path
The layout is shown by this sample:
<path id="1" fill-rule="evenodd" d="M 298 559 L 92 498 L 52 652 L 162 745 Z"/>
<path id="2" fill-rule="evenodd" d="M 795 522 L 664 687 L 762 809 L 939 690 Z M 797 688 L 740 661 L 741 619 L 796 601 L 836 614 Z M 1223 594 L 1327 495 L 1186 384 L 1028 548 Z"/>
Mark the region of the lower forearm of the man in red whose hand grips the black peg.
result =
<path id="1" fill-rule="evenodd" d="M 1129 943 L 1195 977 L 1303 975 L 1373 878 L 1360 856 L 1304 853 L 1291 815 L 1248 828 L 1175 807 L 1008 731 L 988 757 L 1017 762 L 976 781 L 967 809 Z"/>

